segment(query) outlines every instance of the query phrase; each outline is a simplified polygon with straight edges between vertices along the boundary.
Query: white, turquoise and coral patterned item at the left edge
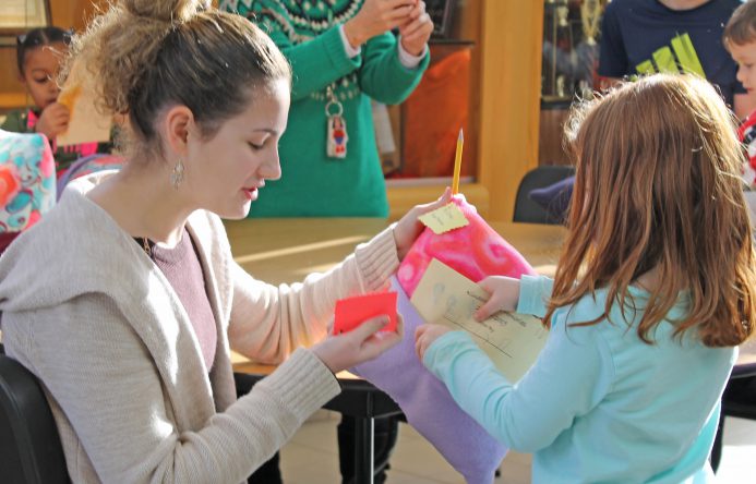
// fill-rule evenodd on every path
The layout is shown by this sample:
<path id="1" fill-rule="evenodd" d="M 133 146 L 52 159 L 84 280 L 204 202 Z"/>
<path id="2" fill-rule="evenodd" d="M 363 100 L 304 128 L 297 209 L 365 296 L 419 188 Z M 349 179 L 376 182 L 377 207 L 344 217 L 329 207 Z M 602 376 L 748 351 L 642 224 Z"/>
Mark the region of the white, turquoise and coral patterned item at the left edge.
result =
<path id="1" fill-rule="evenodd" d="M 0 252 L 56 203 L 56 167 L 43 134 L 0 130 Z"/>

